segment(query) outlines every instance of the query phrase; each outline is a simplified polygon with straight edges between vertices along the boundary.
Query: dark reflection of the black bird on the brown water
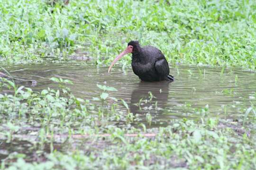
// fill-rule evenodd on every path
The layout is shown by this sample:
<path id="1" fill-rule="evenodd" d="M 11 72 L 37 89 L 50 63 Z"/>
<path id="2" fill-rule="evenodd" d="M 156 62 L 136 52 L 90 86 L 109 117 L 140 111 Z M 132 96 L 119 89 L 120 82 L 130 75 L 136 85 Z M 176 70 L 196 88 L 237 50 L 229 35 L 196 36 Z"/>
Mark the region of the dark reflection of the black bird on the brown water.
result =
<path id="1" fill-rule="evenodd" d="M 130 111 L 137 113 L 161 113 L 169 93 L 168 81 L 140 82 L 131 94 Z"/>

